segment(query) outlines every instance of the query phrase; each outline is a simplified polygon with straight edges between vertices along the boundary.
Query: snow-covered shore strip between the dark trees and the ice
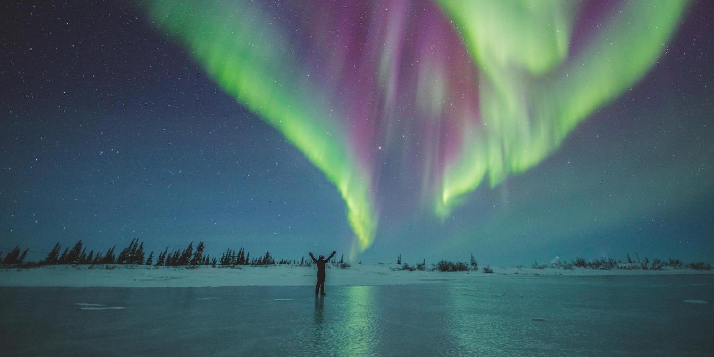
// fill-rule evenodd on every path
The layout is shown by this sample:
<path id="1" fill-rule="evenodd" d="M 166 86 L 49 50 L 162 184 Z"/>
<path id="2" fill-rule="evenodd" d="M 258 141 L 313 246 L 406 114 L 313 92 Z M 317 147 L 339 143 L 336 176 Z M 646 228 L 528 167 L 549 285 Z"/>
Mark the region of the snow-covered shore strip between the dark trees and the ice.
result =
<path id="1" fill-rule="evenodd" d="M 460 271 L 399 271 L 396 264 L 356 264 L 328 268 L 326 285 L 392 285 L 438 283 L 493 278 L 496 276 L 633 276 L 713 274 L 688 268 L 662 270 L 595 270 L 573 268 L 535 269 L 521 266 L 491 266 L 494 273 Z M 314 267 L 241 266 L 241 268 L 196 269 L 147 266 L 44 266 L 30 269 L 0 269 L 0 286 L 116 286 L 116 287 L 201 287 L 201 286 L 308 286 L 314 285 Z"/>

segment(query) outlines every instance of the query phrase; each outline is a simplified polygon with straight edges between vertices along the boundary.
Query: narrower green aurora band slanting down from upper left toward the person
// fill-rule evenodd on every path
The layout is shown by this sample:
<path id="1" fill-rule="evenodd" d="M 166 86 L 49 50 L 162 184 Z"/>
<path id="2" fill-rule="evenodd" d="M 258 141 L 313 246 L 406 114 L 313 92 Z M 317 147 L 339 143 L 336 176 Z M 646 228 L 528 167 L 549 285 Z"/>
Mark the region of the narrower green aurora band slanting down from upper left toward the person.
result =
<path id="1" fill-rule="evenodd" d="M 271 19 L 249 2 L 241 2 L 240 11 L 224 11 L 208 1 L 141 4 L 148 6 L 156 26 L 188 46 L 224 91 L 281 131 L 323 171 L 346 203 L 357 237 L 353 252 L 368 248 L 377 224 L 371 177 L 345 146 L 346 136 L 333 114 L 338 109 L 328 105 L 327 94 L 299 76 L 304 71 L 290 67 L 298 63 L 288 51 L 291 43 L 273 31 Z"/>

